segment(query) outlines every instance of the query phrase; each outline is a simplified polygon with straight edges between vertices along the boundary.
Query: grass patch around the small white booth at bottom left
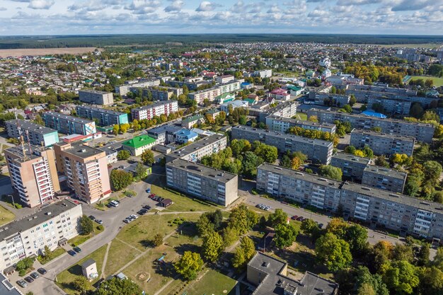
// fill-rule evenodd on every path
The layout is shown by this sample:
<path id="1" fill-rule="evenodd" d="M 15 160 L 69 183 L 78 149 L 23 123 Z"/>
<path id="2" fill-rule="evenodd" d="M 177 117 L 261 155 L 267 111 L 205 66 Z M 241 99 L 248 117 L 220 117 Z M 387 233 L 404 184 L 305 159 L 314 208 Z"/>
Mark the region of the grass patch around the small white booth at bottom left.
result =
<path id="1" fill-rule="evenodd" d="M 72 283 L 74 282 L 77 276 L 82 275 L 81 264 L 86 260 L 88 260 L 89 258 L 95 260 L 97 263 L 97 271 L 99 278 L 101 275 L 101 267 L 103 265 L 103 259 L 105 258 L 107 247 L 108 245 L 104 245 L 103 247 L 98 248 L 98 250 L 91 253 L 91 255 L 86 256 L 86 258 L 80 260 L 76 265 L 71 265 L 71 267 L 69 267 L 67 270 L 64 270 L 63 272 L 57 274 L 57 285 L 69 295 L 80 295 L 79 291 L 73 289 Z M 98 278 L 94 280 L 92 283 L 94 284 L 95 282 L 97 282 Z"/>

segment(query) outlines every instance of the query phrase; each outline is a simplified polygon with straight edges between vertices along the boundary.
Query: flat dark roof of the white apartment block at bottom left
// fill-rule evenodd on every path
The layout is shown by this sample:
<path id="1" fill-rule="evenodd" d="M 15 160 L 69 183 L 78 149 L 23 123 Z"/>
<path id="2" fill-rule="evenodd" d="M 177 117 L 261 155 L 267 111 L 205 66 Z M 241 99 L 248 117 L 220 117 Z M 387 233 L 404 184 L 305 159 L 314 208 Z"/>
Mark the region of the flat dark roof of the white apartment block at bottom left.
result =
<path id="1" fill-rule="evenodd" d="M 10 236 L 16 235 L 17 233 L 30 229 L 34 226 L 38 226 L 39 224 L 52 219 L 54 216 L 62 214 L 63 212 L 66 212 L 76 206 L 79 205 L 74 204 L 74 202 L 71 202 L 69 199 L 64 199 L 63 201 L 43 207 L 34 214 L 30 214 L 22 219 L 18 219 L 9 224 L 1 226 L 0 240 L 4 240 Z"/>

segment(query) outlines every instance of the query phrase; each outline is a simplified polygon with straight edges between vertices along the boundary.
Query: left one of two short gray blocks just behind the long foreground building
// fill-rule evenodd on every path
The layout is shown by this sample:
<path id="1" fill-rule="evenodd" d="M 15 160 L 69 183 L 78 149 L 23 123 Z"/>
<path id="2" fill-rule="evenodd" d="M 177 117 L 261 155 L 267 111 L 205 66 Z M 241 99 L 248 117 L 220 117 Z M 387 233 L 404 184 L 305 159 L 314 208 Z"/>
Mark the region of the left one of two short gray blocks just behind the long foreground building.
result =
<path id="1" fill-rule="evenodd" d="M 330 165 L 340 168 L 345 178 L 352 181 L 361 181 L 364 169 L 366 169 L 371 162 L 370 158 L 346 153 L 336 153 L 332 156 Z"/>

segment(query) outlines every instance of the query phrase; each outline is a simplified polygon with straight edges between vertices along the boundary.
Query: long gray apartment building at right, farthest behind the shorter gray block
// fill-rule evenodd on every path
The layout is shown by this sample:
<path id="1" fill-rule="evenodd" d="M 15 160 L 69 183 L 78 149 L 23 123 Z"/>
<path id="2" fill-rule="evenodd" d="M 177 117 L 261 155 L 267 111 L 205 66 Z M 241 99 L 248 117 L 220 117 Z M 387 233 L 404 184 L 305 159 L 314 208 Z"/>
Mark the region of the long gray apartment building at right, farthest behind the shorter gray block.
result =
<path id="1" fill-rule="evenodd" d="M 380 127 L 381 132 L 403 135 L 406 137 L 415 137 L 418 141 L 426 143 L 432 141 L 435 131 L 435 127 L 432 124 L 381 119 L 366 115 L 355 115 L 330 110 L 313 109 L 308 110 L 307 114 L 308 117 L 316 116 L 318 122 L 321 123 L 333 123 L 335 120 L 338 120 L 340 122 L 350 122 L 352 128 L 356 129 L 372 129 L 374 127 Z"/>

